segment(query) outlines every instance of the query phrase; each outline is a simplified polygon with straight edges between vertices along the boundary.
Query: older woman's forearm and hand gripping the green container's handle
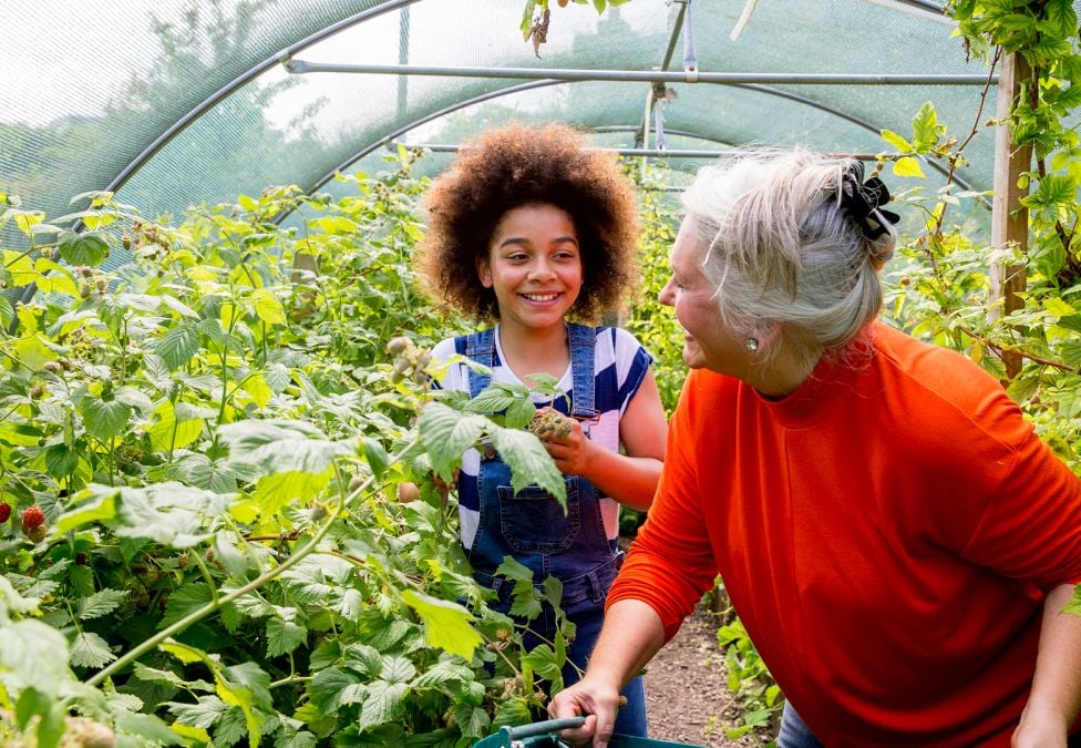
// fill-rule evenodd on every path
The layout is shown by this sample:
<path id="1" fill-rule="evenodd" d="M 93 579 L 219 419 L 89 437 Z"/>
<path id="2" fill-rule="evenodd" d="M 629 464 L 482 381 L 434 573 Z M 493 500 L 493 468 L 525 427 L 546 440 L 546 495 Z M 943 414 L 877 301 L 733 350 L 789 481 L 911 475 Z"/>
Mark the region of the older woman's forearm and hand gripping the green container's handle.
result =
<path id="1" fill-rule="evenodd" d="M 566 731 L 564 740 L 589 745 L 591 739 L 595 747 L 607 746 L 616 725 L 619 691 L 663 643 L 665 627 L 653 608 L 637 600 L 612 604 L 605 613 L 585 676 L 548 704 L 553 719 L 589 715 L 580 729 Z"/>

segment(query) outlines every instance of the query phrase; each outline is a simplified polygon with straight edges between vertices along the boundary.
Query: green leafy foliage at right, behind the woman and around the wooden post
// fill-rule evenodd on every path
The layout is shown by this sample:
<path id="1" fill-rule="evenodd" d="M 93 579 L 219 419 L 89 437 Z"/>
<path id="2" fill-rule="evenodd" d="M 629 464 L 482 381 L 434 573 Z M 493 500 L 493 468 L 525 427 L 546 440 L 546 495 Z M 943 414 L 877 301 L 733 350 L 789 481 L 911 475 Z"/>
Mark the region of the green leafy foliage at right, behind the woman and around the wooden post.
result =
<path id="1" fill-rule="evenodd" d="M 1064 125 L 1081 102 L 1077 13 L 1069 0 L 961 0 L 950 9 L 972 54 L 995 69 L 1002 54 L 1017 53 L 1030 68 L 1008 122 L 1013 146 L 1032 148 L 1021 182 L 1030 240 L 1027 249 L 975 240 L 951 216 L 978 195 L 957 191 L 951 181 L 935 194 L 913 191 L 905 199 L 925 215 L 925 230 L 888 268 L 887 314 L 899 327 L 965 352 L 1003 379 L 1040 436 L 1081 471 L 1081 145 Z M 910 136 L 883 133 L 902 156 L 894 170 L 937 158 L 953 175 L 966 163 L 965 146 L 985 117 L 978 115 L 970 134 L 959 139 L 925 104 Z M 996 267 L 1023 279 L 1017 308 L 1005 306 Z M 1008 371 L 1011 357 L 1021 362 L 1017 371 Z"/>

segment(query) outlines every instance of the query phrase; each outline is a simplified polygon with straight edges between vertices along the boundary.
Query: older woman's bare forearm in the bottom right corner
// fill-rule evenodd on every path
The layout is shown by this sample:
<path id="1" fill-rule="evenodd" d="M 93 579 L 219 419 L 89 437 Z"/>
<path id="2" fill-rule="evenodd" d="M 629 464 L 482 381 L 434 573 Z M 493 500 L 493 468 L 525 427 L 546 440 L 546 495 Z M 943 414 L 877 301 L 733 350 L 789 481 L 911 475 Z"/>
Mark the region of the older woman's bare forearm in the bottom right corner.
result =
<path id="1" fill-rule="evenodd" d="M 1081 617 L 1062 612 L 1072 597 L 1073 585 L 1063 584 L 1043 602 L 1036 675 L 1013 748 L 1064 747 L 1081 709 Z"/>

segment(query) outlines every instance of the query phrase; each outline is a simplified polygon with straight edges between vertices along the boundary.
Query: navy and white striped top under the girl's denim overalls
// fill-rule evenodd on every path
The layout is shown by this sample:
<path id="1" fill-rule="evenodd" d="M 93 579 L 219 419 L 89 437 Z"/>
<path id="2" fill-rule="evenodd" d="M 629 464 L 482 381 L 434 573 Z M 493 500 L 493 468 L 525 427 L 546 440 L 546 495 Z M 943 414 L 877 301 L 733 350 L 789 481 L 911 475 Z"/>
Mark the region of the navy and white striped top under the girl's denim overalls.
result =
<path id="1" fill-rule="evenodd" d="M 616 452 L 619 450 L 619 420 L 622 418 L 627 404 L 641 386 L 646 372 L 652 363 L 652 357 L 646 352 L 641 344 L 627 330 L 617 327 L 594 328 L 597 334 L 594 349 L 594 407 L 599 416 L 596 422 L 583 424 L 591 441 L 598 442 Z M 432 350 L 432 358 L 446 361 L 457 353 L 465 356 L 465 338 L 447 338 Z M 522 380 L 503 365 L 503 348 L 500 345 L 500 328 L 495 328 L 495 360 L 492 367 L 492 381 L 508 385 L 523 385 Z M 559 379 L 559 389 L 574 398 L 574 380 L 570 366 Z M 447 390 L 470 391 L 469 369 L 464 363 L 456 363 L 450 368 L 440 387 Z M 538 408 L 553 404 L 545 396 L 534 395 L 533 403 Z M 553 406 L 560 412 L 566 412 L 566 399 L 557 398 Z M 462 545 L 466 549 L 473 545 L 477 524 L 481 519 L 481 499 L 477 486 L 481 455 L 475 449 L 470 449 L 462 458 L 462 470 L 459 474 L 459 514 L 462 524 Z M 619 503 L 614 499 L 603 498 L 600 511 L 605 520 L 605 531 L 609 540 L 619 534 Z"/>

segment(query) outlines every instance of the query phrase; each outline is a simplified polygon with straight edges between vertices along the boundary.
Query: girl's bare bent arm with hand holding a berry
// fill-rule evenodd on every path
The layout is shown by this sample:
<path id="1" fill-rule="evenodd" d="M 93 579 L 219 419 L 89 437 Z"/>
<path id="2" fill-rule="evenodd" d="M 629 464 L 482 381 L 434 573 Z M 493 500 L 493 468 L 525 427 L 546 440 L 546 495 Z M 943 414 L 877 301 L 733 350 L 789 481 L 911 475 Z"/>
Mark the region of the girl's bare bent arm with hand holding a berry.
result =
<path id="1" fill-rule="evenodd" d="M 574 423 L 567 439 L 548 438 L 544 442 L 565 475 L 581 475 L 619 503 L 646 510 L 657 490 L 667 434 L 668 423 L 657 379 L 652 371 L 648 371 L 619 419 L 619 440 L 626 454 L 586 439 L 578 422 Z"/>

